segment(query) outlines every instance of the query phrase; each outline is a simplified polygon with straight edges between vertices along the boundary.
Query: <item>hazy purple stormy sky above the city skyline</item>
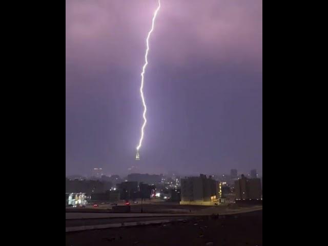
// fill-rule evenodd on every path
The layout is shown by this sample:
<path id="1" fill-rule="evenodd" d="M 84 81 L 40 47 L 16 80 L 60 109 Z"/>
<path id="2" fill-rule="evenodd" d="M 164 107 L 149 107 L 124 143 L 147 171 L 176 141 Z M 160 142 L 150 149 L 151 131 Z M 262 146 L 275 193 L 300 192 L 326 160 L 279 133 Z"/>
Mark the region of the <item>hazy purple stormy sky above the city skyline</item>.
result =
<path id="1" fill-rule="evenodd" d="M 262 172 L 262 1 L 66 0 L 66 174 Z"/>

